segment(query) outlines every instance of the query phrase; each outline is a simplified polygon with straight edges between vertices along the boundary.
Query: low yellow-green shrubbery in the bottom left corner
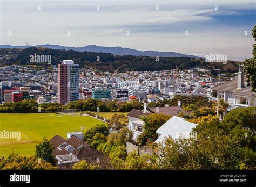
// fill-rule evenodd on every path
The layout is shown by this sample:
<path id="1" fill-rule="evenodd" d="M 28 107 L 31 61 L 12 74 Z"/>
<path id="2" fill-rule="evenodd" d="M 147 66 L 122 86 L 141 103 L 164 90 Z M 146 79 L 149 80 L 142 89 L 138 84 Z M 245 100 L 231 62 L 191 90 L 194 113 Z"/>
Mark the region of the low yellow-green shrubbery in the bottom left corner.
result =
<path id="1" fill-rule="evenodd" d="M 48 163 L 45 160 L 37 158 L 35 156 L 21 156 L 19 154 L 12 153 L 6 158 L 0 159 L 0 169 L 41 170 L 58 169 L 58 167 L 52 166 L 51 163 Z"/>

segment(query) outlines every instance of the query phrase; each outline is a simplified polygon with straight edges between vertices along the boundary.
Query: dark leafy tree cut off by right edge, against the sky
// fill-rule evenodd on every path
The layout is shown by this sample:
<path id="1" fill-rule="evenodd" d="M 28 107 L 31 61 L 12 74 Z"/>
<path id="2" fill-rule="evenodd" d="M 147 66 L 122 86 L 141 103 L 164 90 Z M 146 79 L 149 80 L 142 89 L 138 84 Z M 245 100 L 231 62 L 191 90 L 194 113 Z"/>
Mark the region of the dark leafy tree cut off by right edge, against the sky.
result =
<path id="1" fill-rule="evenodd" d="M 256 25 L 252 29 L 252 36 L 256 42 Z M 251 59 L 245 59 L 244 61 L 244 73 L 247 77 L 247 81 L 251 83 L 252 92 L 256 92 L 256 43 L 253 44 L 252 50 L 253 57 Z"/>

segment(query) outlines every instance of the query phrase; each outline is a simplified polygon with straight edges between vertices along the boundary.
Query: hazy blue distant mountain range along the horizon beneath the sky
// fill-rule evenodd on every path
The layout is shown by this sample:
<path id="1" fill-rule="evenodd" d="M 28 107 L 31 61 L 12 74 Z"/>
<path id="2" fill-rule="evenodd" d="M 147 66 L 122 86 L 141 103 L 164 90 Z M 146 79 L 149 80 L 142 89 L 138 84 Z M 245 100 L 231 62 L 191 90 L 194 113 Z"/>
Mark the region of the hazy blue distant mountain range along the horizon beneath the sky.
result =
<path id="1" fill-rule="evenodd" d="M 158 51 L 138 51 L 136 49 L 123 48 L 123 47 L 102 47 L 96 45 L 89 45 L 85 47 L 66 47 L 59 45 L 37 45 L 37 46 L 11 46 L 11 45 L 0 45 L 0 48 L 28 48 L 28 47 L 46 47 L 51 49 L 64 49 L 74 50 L 78 52 L 98 52 L 98 53 L 111 53 L 114 55 L 133 55 L 133 56 L 159 56 L 159 57 L 192 57 L 199 59 L 198 56 L 186 55 L 175 52 L 158 52 Z"/>

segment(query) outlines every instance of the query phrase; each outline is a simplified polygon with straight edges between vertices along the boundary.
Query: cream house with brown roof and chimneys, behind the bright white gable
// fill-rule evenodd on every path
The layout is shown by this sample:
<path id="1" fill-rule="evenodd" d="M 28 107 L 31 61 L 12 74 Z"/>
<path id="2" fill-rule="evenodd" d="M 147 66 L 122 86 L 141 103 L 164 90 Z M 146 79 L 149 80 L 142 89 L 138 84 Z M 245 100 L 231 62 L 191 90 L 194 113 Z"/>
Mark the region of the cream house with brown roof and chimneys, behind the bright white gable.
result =
<path id="1" fill-rule="evenodd" d="M 167 106 L 167 107 L 147 107 L 147 103 L 144 103 L 143 110 L 131 110 L 127 117 L 129 118 L 128 128 L 133 132 L 133 139 L 137 140 L 139 134 L 143 132 L 143 121 L 140 117 L 147 116 L 151 113 L 163 113 L 169 116 L 178 116 L 183 111 L 180 107 L 181 102 L 178 102 L 178 106 Z"/>

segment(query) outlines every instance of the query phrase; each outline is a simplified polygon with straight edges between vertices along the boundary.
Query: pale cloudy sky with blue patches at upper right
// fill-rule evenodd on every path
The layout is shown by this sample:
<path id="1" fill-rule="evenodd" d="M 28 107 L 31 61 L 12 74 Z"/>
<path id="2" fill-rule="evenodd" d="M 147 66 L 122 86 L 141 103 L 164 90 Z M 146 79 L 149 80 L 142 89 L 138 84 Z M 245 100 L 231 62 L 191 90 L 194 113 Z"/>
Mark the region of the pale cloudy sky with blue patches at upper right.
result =
<path id="1" fill-rule="evenodd" d="M 0 0 L 0 45 L 252 56 L 255 0 Z"/>

